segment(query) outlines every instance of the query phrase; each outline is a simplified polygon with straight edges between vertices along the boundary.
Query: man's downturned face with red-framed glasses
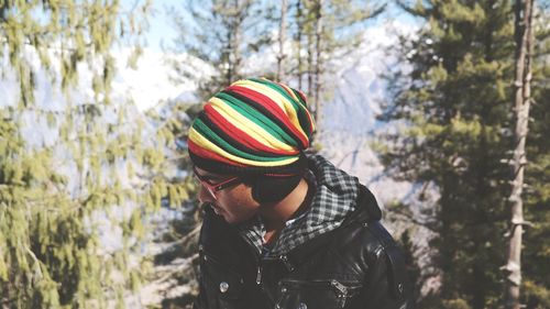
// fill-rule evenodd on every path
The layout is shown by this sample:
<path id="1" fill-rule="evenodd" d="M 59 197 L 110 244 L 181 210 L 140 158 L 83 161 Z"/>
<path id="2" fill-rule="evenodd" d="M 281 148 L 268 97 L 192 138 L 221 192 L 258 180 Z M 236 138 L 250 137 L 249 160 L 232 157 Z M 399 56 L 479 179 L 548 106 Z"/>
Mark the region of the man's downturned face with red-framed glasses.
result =
<path id="1" fill-rule="evenodd" d="M 199 179 L 199 201 L 208 202 L 213 211 L 230 223 L 241 223 L 252 218 L 260 208 L 252 198 L 251 187 L 235 176 L 208 173 L 195 167 Z"/>

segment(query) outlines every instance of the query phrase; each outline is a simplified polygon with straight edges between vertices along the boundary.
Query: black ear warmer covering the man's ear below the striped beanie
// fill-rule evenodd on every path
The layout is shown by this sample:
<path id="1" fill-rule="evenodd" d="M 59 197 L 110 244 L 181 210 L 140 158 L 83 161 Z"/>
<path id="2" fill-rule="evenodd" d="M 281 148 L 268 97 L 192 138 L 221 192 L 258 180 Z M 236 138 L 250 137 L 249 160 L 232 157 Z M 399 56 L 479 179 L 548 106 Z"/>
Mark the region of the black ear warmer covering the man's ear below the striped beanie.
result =
<path id="1" fill-rule="evenodd" d="M 251 180 L 252 197 L 260 203 L 277 202 L 288 196 L 301 179 L 292 177 L 256 177 Z"/>

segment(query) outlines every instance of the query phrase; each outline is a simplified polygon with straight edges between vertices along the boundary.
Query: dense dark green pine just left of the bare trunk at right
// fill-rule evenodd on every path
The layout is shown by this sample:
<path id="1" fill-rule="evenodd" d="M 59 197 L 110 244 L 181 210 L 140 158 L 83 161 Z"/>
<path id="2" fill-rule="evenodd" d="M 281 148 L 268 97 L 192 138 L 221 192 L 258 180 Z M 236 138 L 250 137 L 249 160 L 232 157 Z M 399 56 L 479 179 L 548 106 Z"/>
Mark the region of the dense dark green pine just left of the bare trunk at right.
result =
<path id="1" fill-rule="evenodd" d="M 431 183 L 440 192 L 429 224 L 437 232 L 431 245 L 442 278 L 440 301 L 419 306 L 494 308 L 502 304 L 499 267 L 509 220 L 506 163 L 514 150 L 512 3 L 402 5 L 426 25 L 416 36 L 403 37 L 398 47 L 410 71 L 388 77 L 393 101 L 381 119 L 405 121 L 405 126 L 383 136 L 388 139 L 383 161 L 395 178 Z M 531 147 L 527 156 L 537 152 Z M 528 245 L 540 254 L 548 241 Z M 529 274 L 525 278 L 529 282 Z"/>

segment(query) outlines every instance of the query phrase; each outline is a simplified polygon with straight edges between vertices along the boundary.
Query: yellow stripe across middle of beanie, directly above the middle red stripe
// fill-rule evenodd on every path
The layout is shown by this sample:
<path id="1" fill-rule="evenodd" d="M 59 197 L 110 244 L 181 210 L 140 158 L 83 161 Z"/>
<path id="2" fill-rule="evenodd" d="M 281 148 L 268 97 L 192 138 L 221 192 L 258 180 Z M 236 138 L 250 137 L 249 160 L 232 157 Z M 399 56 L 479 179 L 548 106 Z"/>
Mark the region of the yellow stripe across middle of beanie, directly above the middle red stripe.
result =
<path id="1" fill-rule="evenodd" d="M 213 97 L 208 102 L 217 112 L 219 112 L 223 118 L 228 119 L 229 122 L 232 122 L 233 124 L 238 123 L 237 126 L 239 126 L 239 129 L 246 132 L 260 143 L 274 150 L 283 150 L 287 152 L 296 151 L 296 148 L 294 148 L 293 146 L 275 139 L 270 132 L 265 131 L 265 129 L 232 109 L 223 100 Z"/>

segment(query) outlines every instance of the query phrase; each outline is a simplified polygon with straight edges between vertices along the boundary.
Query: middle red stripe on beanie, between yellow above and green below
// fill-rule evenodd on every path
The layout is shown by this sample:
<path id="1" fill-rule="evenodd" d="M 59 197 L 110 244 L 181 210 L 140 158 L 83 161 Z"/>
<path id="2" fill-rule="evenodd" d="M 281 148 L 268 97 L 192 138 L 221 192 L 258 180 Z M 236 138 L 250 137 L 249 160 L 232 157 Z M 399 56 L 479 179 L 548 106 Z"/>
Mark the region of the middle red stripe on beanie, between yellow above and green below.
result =
<path id="1" fill-rule="evenodd" d="M 296 155 L 299 151 L 287 152 L 284 150 L 276 150 L 262 144 L 254 137 L 250 136 L 246 132 L 242 131 L 231 122 L 229 122 L 223 115 L 221 115 L 211 104 L 205 106 L 205 114 L 213 122 L 218 128 L 222 129 L 226 134 L 231 136 L 233 140 L 239 141 L 250 148 L 257 150 L 261 152 L 266 152 L 271 154 L 278 155 Z"/>

